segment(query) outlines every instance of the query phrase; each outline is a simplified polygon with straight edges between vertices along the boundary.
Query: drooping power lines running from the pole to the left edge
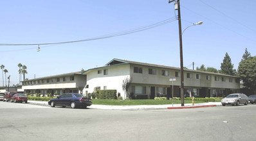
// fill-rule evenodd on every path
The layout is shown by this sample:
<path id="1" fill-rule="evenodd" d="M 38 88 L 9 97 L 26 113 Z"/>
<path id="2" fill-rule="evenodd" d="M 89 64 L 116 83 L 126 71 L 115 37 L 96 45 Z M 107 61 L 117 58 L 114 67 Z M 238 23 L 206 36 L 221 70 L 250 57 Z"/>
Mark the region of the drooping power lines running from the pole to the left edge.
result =
<path id="1" fill-rule="evenodd" d="M 168 24 L 168 23 L 176 21 L 176 20 L 177 20 L 177 17 L 172 17 L 169 19 L 165 19 L 164 21 L 156 22 L 149 26 L 143 26 L 140 28 L 130 29 L 128 31 L 121 31 L 118 33 L 111 33 L 109 35 L 104 35 L 104 36 L 95 37 L 95 38 L 87 38 L 87 39 L 83 39 L 83 40 L 73 40 L 73 41 L 66 41 L 66 42 L 52 42 L 52 43 L 39 43 L 39 44 L 0 44 L 0 46 L 44 46 L 44 45 L 70 44 L 70 43 L 75 43 L 75 42 L 86 42 L 86 41 L 90 41 L 90 40 L 100 40 L 100 39 L 104 39 L 104 38 L 118 37 L 118 36 L 122 36 L 122 35 L 128 35 L 131 33 L 145 31 L 147 29 L 156 28 L 158 26 L 163 26 L 164 24 Z M 30 49 L 32 49 L 32 48 L 30 48 Z"/>

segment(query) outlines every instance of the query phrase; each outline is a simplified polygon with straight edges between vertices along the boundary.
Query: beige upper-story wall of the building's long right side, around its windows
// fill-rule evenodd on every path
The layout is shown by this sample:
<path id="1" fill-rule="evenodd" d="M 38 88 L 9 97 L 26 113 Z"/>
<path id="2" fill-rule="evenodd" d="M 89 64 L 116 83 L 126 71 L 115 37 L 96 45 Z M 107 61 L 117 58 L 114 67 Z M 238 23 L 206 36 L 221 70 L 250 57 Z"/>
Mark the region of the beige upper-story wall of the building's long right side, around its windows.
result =
<path id="1" fill-rule="evenodd" d="M 134 67 L 142 67 L 143 73 L 134 73 Z M 156 74 L 149 74 L 149 69 L 156 69 Z M 161 70 L 168 70 L 169 76 L 162 76 Z M 180 70 L 161 69 L 158 67 L 148 67 L 140 65 L 131 65 L 131 76 L 133 77 L 133 83 L 148 84 L 148 85 L 172 85 L 170 77 L 175 77 L 175 72 Z M 192 75 L 191 78 L 187 78 L 187 73 Z M 196 79 L 196 74 L 201 75 L 201 79 Z M 235 78 L 227 76 L 219 76 L 220 74 L 205 74 L 201 72 L 188 72 L 184 71 L 184 86 L 185 87 L 209 87 L 209 88 L 233 88 L 239 89 L 240 83 L 235 83 Z M 206 76 L 210 77 L 210 80 L 206 79 Z M 215 81 L 215 76 L 219 77 L 219 81 Z M 221 81 L 221 78 L 226 78 L 226 81 Z M 229 82 L 229 78 L 233 79 L 233 82 Z M 174 85 L 181 85 L 181 78 L 177 77 L 174 81 Z"/>

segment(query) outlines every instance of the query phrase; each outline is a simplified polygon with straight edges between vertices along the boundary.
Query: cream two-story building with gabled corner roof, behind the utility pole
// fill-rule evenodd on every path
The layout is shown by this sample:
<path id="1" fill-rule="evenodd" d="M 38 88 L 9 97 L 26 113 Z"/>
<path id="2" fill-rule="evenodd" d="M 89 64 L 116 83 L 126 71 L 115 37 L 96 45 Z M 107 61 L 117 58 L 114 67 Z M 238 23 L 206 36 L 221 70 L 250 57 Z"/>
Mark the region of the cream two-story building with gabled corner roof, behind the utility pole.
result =
<path id="1" fill-rule="evenodd" d="M 158 95 L 170 96 L 170 77 L 176 77 L 174 96 L 180 95 L 180 69 L 176 67 L 113 59 L 104 67 L 89 69 L 83 74 L 87 76 L 84 94 L 95 90 L 114 89 L 123 97 L 125 92 L 122 83 L 125 78 L 129 78 L 133 80 L 129 87 L 130 94 L 133 92 L 135 95 L 147 95 L 151 99 Z M 236 76 L 184 69 L 185 94 L 190 91 L 196 97 L 223 97 L 238 92 L 239 87 L 239 77 Z"/>

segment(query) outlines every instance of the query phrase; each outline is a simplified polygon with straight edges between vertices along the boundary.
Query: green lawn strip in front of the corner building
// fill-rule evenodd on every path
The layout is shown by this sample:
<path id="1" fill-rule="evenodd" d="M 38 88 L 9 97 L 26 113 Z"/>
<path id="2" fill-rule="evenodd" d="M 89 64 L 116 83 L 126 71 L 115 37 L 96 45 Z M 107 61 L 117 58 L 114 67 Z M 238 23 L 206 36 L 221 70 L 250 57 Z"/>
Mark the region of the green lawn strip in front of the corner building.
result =
<path id="1" fill-rule="evenodd" d="M 154 105 L 154 104 L 172 104 L 172 100 L 154 100 L 154 99 L 133 99 L 133 100 L 116 100 L 116 99 L 92 99 L 93 104 L 104 105 Z M 192 103 L 184 101 L 185 104 Z M 203 103 L 203 101 L 194 101 L 194 103 Z M 181 104 L 181 101 L 174 100 L 174 104 Z"/>

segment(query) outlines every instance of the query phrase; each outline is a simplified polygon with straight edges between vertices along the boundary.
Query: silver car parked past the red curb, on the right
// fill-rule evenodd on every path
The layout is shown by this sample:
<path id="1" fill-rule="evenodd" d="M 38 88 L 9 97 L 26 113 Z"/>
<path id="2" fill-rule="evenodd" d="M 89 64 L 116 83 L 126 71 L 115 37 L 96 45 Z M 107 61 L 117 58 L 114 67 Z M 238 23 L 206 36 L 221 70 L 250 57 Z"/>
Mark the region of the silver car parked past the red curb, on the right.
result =
<path id="1" fill-rule="evenodd" d="M 248 104 L 248 97 L 245 94 L 230 94 L 224 99 L 221 100 L 221 104 L 225 106 L 226 104 L 236 104 L 239 106 L 240 103 L 244 103 L 244 105 Z"/>

